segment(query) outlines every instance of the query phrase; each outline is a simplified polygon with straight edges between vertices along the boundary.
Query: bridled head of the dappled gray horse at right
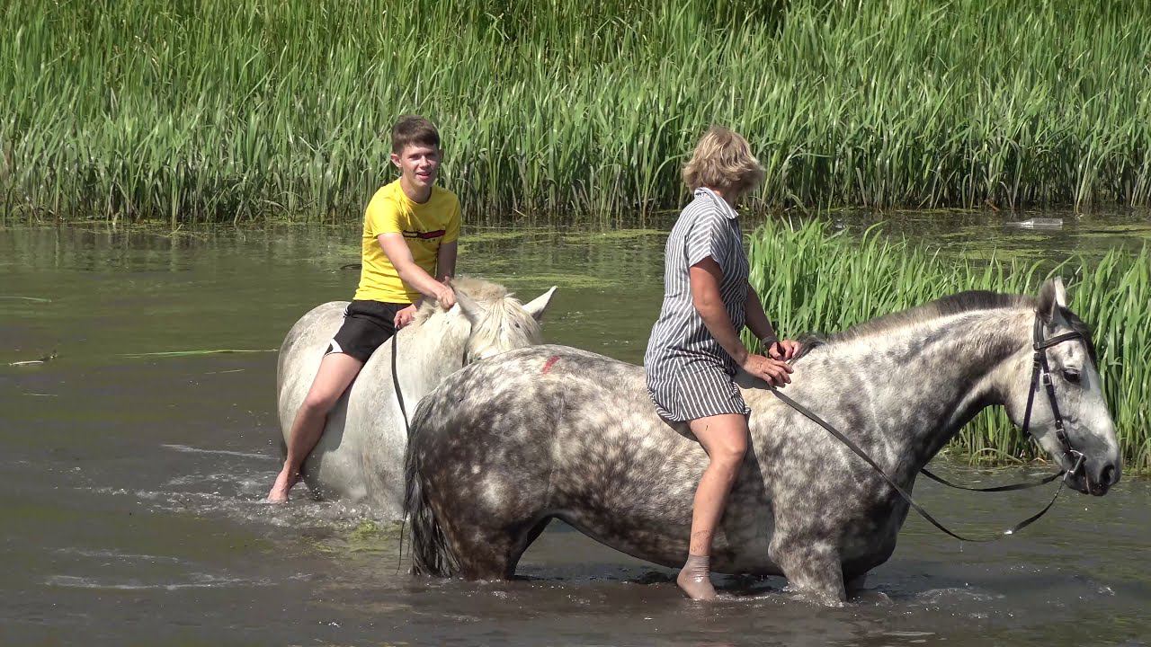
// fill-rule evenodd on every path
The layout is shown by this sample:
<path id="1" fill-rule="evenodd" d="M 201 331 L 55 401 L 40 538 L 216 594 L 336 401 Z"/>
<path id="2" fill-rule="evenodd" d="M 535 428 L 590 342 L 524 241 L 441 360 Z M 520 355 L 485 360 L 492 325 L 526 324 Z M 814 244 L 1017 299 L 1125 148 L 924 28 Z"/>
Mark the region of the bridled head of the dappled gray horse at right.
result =
<path id="1" fill-rule="evenodd" d="M 1119 482 L 1121 471 L 1119 441 L 1115 424 L 1107 411 L 1107 402 L 1099 381 L 1095 347 L 1090 330 L 1067 309 L 1067 295 L 1059 279 L 1043 284 L 1036 304 L 1036 345 L 1053 342 L 1041 348 L 1046 353 L 1047 373 L 1054 390 L 1054 409 L 1062 417 L 1066 443 L 1060 440 L 1055 412 L 1049 388 L 1044 383 L 1043 370 L 1032 383 L 1032 363 L 1027 361 L 1019 376 L 1008 403 L 1008 414 L 1016 425 L 1024 424 L 1027 401 L 1030 389 L 1035 389 L 1031 408 L 1030 431 L 1039 446 L 1054 458 L 1064 470 L 1075 467 L 1081 452 L 1082 466 L 1068 478 L 1068 485 L 1082 493 L 1102 496 Z M 1065 341 L 1054 341 L 1060 335 L 1070 335 Z M 1073 452 L 1067 451 L 1067 446 Z"/>

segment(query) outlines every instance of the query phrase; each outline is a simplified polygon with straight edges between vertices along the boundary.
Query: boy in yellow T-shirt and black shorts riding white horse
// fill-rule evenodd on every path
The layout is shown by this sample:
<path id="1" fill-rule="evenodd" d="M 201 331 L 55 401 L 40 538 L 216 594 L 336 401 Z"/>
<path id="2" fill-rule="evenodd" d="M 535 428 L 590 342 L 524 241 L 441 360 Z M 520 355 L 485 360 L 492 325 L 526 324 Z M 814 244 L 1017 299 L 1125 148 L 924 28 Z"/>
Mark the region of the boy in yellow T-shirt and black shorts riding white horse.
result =
<path id="1" fill-rule="evenodd" d="M 288 501 L 328 412 L 372 352 L 411 322 L 419 300 L 435 299 L 444 310 L 456 303 L 448 280 L 456 272 L 459 200 L 435 185 L 440 152 L 440 134 L 428 120 L 409 115 L 392 127 L 391 163 L 399 180 L 376 191 L 367 205 L 359 288 L 292 423 L 288 457 L 269 502 Z"/>

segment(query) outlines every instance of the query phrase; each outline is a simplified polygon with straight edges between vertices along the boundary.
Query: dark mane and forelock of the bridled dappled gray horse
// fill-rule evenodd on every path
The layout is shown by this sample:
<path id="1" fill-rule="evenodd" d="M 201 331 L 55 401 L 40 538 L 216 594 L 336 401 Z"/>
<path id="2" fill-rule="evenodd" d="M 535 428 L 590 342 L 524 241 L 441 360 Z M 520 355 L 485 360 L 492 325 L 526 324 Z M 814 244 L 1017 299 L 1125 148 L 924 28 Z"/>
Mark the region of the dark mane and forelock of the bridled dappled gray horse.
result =
<path id="1" fill-rule="evenodd" d="M 872 335 L 882 335 L 883 333 L 890 330 L 904 328 L 914 324 L 931 321 L 951 314 L 1003 309 L 1035 310 L 1037 300 L 1038 299 L 1032 296 L 1005 295 L 989 290 L 968 290 L 966 292 L 958 292 L 920 306 L 909 307 L 899 312 L 892 312 L 891 314 L 884 314 L 883 317 L 877 317 L 875 319 L 856 324 L 846 330 L 833 333 L 831 335 L 823 335 L 818 333 L 808 333 L 802 335 L 800 341 L 803 343 L 803 352 L 800 357 L 807 355 L 808 351 L 816 347 L 849 342 Z M 1070 310 L 1062 307 L 1060 309 L 1060 312 L 1072 329 L 1082 334 L 1083 338 L 1087 340 L 1088 352 L 1091 356 L 1091 360 L 1098 365 L 1096 361 L 1095 344 L 1091 342 L 1090 327 Z"/>

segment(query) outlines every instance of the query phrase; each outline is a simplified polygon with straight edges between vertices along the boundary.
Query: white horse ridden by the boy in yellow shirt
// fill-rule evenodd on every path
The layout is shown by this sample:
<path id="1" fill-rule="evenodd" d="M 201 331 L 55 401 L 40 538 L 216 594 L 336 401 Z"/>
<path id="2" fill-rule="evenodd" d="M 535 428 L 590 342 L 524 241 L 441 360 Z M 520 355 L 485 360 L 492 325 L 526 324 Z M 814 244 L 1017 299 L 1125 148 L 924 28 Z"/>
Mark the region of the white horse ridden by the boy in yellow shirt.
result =
<path id="1" fill-rule="evenodd" d="M 453 287 L 457 303 L 451 310 L 425 303 L 416 320 L 396 334 L 396 371 L 409 416 L 425 394 L 467 361 L 540 343 L 539 321 L 556 290 L 521 305 L 503 286 L 487 281 L 460 277 Z M 317 306 L 280 347 L 276 387 L 284 439 L 346 305 Z M 366 503 L 384 518 L 399 519 L 407 431 L 392 386 L 391 349 L 391 340 L 380 347 L 336 403 L 303 475 L 318 496 Z M 282 456 L 283 443 L 280 449 Z"/>

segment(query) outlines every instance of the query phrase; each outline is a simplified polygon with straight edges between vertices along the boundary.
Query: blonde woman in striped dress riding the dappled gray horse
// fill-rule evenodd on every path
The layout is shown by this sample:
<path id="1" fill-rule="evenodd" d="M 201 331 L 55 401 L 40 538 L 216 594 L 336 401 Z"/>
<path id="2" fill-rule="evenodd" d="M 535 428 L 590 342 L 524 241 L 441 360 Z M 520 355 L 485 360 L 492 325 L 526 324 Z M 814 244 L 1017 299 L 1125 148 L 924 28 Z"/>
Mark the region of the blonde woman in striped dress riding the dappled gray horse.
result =
<path id="1" fill-rule="evenodd" d="M 687 563 L 677 584 L 693 600 L 716 596 L 711 538 L 747 451 L 747 417 L 737 368 L 770 385 L 791 381 L 794 341 L 779 341 L 748 283 L 747 253 L 734 205 L 763 180 L 763 167 L 738 134 L 711 127 L 684 167 L 694 199 L 668 237 L 664 297 L 645 356 L 648 391 L 660 416 L 686 421 L 708 452 L 692 512 Z M 768 349 L 744 348 L 747 326 Z"/>

